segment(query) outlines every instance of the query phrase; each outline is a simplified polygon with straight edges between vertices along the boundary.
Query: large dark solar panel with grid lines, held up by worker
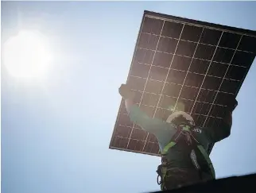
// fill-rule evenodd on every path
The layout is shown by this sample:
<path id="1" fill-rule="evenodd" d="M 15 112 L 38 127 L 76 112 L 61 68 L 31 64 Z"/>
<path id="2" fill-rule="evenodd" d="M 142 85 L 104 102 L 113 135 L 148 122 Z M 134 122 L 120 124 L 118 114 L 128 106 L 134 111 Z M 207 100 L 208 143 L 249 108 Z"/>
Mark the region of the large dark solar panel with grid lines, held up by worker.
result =
<path id="1" fill-rule="evenodd" d="M 151 118 L 183 110 L 216 128 L 255 55 L 255 31 L 145 11 L 127 83 Z M 123 100 L 110 149 L 159 156 L 157 139 L 130 122 Z"/>

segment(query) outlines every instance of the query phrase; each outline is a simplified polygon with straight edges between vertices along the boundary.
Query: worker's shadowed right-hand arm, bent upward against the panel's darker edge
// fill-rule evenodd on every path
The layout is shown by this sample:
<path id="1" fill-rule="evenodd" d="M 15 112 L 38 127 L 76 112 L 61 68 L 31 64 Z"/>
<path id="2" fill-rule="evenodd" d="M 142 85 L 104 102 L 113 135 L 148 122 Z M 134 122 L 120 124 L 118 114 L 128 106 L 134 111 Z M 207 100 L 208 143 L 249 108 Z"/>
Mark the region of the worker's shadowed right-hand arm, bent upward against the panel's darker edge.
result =
<path id="1" fill-rule="evenodd" d="M 224 138 L 227 138 L 231 134 L 232 126 L 232 112 L 235 110 L 235 107 L 238 105 L 238 102 L 235 100 L 231 101 L 231 104 L 227 106 L 222 122 L 217 128 L 204 128 L 203 132 L 208 137 L 208 140 L 211 143 L 221 141 Z"/>

